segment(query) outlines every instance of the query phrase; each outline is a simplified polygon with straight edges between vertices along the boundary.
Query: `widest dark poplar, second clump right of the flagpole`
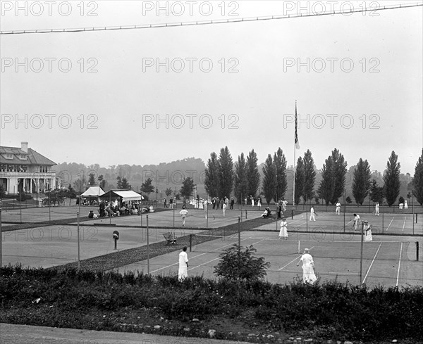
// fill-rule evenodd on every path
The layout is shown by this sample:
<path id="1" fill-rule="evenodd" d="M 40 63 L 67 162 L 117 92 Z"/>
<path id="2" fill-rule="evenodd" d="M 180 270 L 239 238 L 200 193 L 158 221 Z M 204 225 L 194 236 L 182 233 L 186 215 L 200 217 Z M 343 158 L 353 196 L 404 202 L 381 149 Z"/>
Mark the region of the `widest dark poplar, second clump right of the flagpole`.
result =
<path id="1" fill-rule="evenodd" d="M 324 198 L 326 205 L 335 204 L 343 195 L 346 174 L 347 162 L 338 149 L 334 148 L 321 169 L 322 180 L 318 192 L 320 198 Z"/>

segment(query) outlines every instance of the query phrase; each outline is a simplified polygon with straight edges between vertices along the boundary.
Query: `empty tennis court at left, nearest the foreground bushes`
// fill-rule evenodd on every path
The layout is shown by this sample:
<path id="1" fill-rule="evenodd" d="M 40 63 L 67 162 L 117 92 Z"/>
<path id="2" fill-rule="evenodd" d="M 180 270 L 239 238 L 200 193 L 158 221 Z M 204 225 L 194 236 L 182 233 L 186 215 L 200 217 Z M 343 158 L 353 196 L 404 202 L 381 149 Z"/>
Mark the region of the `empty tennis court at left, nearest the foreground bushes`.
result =
<path id="1" fill-rule="evenodd" d="M 145 228 L 117 228 L 117 249 L 127 250 L 147 245 Z M 80 226 L 80 260 L 114 253 L 114 227 Z M 149 229 L 149 243 L 164 241 L 168 229 Z M 177 237 L 197 233 L 192 229 L 175 229 Z M 78 227 L 48 226 L 3 232 L 2 265 L 54 267 L 78 261 Z"/>

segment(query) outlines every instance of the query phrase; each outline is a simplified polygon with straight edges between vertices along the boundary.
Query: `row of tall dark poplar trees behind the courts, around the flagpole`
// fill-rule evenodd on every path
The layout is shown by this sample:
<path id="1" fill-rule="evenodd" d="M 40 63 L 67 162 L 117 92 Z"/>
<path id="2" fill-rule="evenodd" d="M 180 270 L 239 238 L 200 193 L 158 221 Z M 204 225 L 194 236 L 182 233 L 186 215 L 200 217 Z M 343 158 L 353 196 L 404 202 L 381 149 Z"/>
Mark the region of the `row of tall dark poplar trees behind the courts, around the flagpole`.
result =
<path id="1" fill-rule="evenodd" d="M 256 198 L 260 187 L 260 173 L 257 165 L 257 153 L 254 149 L 245 158 L 244 153 L 238 156 L 238 161 L 233 164 L 228 147 L 221 148 L 219 156 L 211 153 L 205 170 L 204 187 L 210 197 L 230 197 L 233 194 L 238 203 L 252 196 Z M 335 204 L 343 198 L 345 181 L 347 177 L 347 162 L 341 152 L 334 148 L 331 155 L 325 160 L 321 169 L 321 182 L 316 191 L 316 166 L 312 152 L 307 150 L 304 157 L 297 160 L 295 168 L 295 204 L 302 198 L 307 203 L 317 197 L 325 200 L 326 205 Z M 281 148 L 267 155 L 262 167 L 263 194 L 266 203 L 271 200 L 281 200 L 288 189 L 286 158 Z M 384 171 L 384 186 L 377 185 L 372 180 L 372 172 L 367 160 L 360 158 L 353 173 L 352 192 L 355 202 L 362 205 L 364 198 L 370 197 L 374 202 L 385 199 L 389 206 L 396 202 L 400 193 L 400 163 L 398 155 L 392 151 Z M 416 167 L 415 177 L 412 179 L 412 189 L 417 201 L 423 204 L 423 150 Z"/>

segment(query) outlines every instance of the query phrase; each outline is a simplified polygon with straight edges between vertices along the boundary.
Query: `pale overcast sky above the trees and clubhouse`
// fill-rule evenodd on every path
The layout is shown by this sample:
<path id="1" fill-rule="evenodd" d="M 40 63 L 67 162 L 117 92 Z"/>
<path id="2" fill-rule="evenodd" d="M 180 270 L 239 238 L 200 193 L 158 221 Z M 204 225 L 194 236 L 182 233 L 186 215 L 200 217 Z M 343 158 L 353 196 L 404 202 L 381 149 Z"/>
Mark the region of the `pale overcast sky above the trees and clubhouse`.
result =
<path id="1" fill-rule="evenodd" d="M 414 174 L 423 147 L 422 1 L 1 1 L 1 31 L 294 18 L 137 30 L 1 34 L 0 145 L 56 163 L 151 165 L 228 146 L 309 149 L 320 169 Z M 298 140 L 295 151 L 295 102 Z M 295 160 L 294 160 L 295 154 Z"/>

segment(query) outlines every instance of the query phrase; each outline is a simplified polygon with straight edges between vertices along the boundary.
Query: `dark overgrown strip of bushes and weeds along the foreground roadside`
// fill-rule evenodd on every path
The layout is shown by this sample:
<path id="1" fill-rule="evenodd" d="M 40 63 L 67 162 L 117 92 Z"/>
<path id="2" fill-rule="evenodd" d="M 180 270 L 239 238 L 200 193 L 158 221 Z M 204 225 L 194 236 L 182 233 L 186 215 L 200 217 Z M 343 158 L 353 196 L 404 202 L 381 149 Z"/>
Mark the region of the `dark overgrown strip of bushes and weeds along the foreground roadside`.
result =
<path id="1" fill-rule="evenodd" d="M 0 322 L 6 323 L 200 337 L 217 326 L 218 338 L 247 340 L 249 333 L 259 333 L 265 343 L 288 334 L 370 343 L 423 338 L 422 287 L 281 285 L 201 276 L 180 283 L 177 276 L 20 266 L 0 272 Z M 234 326 L 243 329 L 236 338 L 228 334 Z"/>

